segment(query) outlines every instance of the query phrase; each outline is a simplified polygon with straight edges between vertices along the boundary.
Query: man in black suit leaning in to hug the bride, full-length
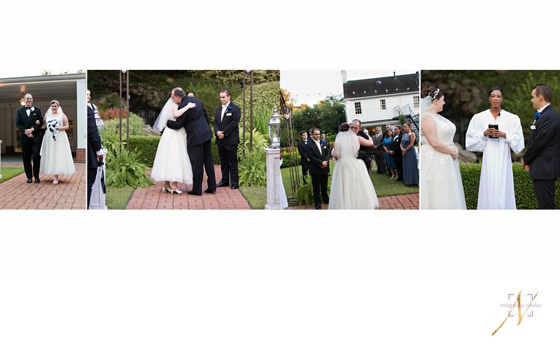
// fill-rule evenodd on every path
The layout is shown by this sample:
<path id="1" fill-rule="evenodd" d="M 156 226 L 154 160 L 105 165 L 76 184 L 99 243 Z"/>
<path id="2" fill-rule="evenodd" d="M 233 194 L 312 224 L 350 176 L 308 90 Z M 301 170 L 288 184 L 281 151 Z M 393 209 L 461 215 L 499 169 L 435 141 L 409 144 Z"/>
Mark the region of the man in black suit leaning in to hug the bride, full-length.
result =
<path id="1" fill-rule="evenodd" d="M 167 126 L 171 129 L 181 129 L 185 127 L 187 131 L 187 152 L 190 164 L 193 166 L 193 189 L 188 194 L 202 196 L 202 177 L 204 170 L 208 176 L 208 188 L 204 190 L 207 194 L 216 193 L 216 175 L 214 174 L 214 160 L 212 159 L 211 139 L 212 131 L 207 122 L 207 116 L 202 107 L 202 102 L 195 97 L 186 96 L 181 87 L 175 87 L 171 97 L 174 103 L 179 104 L 179 108 L 187 106 L 188 103 L 195 103 L 194 108 L 190 108 L 175 121 L 167 120 Z"/>

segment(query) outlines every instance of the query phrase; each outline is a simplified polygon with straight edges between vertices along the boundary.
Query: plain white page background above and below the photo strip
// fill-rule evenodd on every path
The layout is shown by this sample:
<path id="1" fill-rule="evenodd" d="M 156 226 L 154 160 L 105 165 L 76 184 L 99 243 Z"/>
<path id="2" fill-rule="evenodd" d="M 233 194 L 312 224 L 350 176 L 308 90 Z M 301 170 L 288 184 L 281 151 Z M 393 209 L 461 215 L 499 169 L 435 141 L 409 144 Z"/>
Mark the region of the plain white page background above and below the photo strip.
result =
<path id="1" fill-rule="evenodd" d="M 31 1 L 6 8 L 3 64 L 560 69 L 538 3 L 455 6 Z M 559 216 L 4 210 L 0 347 L 545 347 Z M 492 337 L 520 290 L 542 307 Z"/>

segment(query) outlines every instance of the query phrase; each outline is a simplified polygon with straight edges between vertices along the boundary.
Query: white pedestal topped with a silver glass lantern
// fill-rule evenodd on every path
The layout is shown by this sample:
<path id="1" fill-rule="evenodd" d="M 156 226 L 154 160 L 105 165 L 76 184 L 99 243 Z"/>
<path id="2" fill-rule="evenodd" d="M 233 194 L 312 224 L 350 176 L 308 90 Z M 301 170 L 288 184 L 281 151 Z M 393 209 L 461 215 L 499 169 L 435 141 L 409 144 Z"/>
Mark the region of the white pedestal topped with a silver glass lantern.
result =
<path id="1" fill-rule="evenodd" d="M 283 185 L 280 175 L 280 115 L 274 108 L 274 115 L 268 122 L 268 136 L 272 144 L 265 147 L 267 156 L 267 210 L 282 209 L 280 204 L 280 185 Z"/>

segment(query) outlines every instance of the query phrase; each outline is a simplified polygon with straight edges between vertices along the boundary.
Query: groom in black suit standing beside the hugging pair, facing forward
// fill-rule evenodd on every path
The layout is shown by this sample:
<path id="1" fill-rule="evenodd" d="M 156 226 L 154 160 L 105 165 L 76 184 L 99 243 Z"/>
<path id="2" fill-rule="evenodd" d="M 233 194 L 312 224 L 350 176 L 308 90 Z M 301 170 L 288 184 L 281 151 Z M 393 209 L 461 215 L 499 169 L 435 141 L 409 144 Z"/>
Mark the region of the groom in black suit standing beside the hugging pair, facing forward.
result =
<path id="1" fill-rule="evenodd" d="M 239 121 L 241 109 L 230 101 L 229 89 L 220 92 L 220 107 L 214 113 L 214 133 L 216 145 L 220 154 L 222 180 L 218 187 L 228 186 L 231 177 L 231 189 L 239 188 L 239 175 L 237 172 L 237 145 L 239 144 Z"/>

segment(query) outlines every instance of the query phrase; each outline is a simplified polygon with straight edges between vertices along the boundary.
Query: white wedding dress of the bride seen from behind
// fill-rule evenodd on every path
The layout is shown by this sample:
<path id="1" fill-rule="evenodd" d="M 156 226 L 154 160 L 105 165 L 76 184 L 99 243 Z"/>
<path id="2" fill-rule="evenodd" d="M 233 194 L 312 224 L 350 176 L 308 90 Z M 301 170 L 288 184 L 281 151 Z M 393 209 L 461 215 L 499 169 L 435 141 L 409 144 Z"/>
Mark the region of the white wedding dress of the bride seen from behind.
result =
<path id="1" fill-rule="evenodd" d="M 353 131 L 341 131 L 335 140 L 335 169 L 330 182 L 329 209 L 375 209 L 377 194 L 364 161 L 356 158 L 360 143 Z"/>

